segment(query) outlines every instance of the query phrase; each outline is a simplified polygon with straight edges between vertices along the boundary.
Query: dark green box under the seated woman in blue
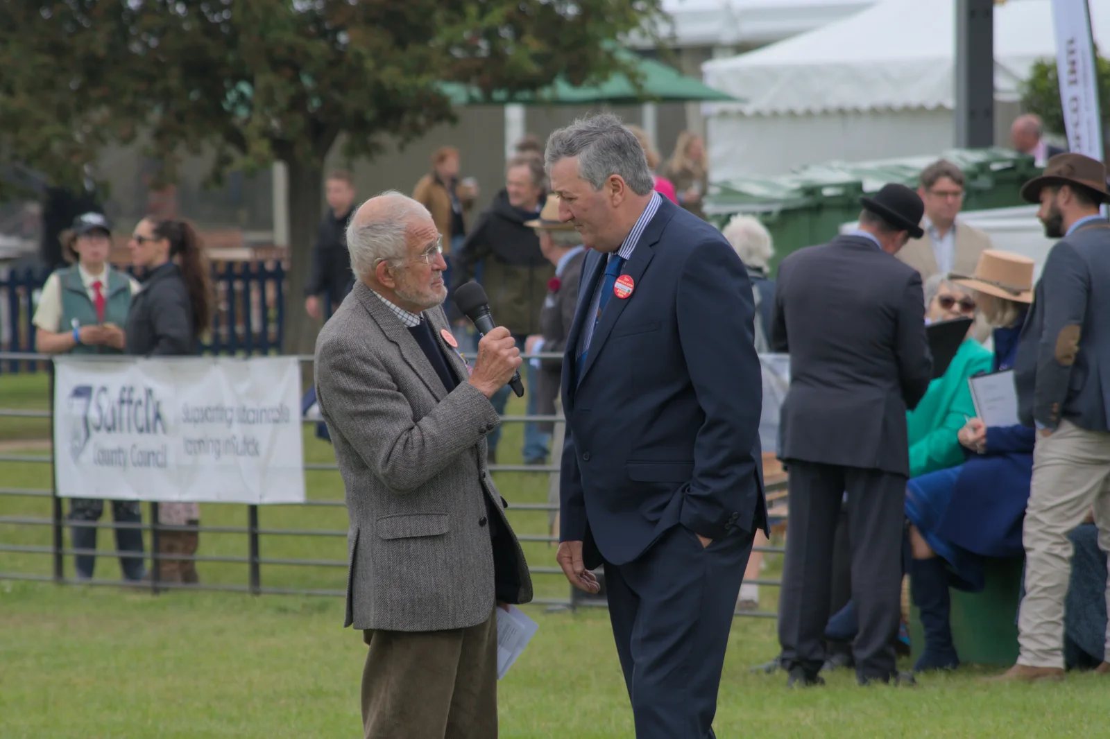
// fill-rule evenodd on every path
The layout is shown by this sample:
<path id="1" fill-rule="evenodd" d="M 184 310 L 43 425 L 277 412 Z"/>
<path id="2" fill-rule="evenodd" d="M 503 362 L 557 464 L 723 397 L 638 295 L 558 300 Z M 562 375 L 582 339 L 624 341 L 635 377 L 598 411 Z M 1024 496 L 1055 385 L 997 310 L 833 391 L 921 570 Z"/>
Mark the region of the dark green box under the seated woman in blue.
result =
<path id="1" fill-rule="evenodd" d="M 1010 667 L 1018 661 L 1018 597 L 1022 557 L 986 560 L 982 593 L 951 593 L 952 640 L 967 665 Z M 914 659 L 925 648 L 925 631 L 917 608 L 910 611 L 910 648 Z"/>

